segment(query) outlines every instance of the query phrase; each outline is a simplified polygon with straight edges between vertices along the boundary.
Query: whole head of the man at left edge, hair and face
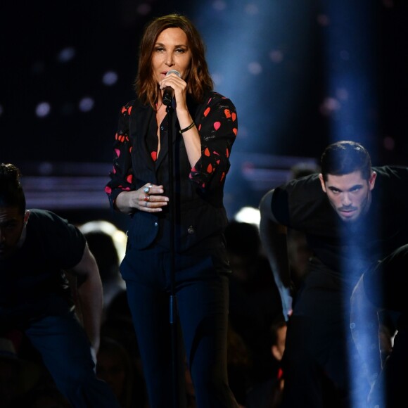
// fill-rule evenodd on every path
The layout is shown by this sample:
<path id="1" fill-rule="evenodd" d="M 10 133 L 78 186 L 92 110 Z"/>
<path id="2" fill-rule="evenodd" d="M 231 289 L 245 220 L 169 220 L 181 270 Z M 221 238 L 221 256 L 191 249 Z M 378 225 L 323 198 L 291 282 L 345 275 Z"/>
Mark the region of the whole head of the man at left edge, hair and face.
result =
<path id="1" fill-rule="evenodd" d="M 11 164 L 0 165 L 0 260 L 15 253 L 30 216 L 25 211 L 25 195 L 20 171 Z"/>

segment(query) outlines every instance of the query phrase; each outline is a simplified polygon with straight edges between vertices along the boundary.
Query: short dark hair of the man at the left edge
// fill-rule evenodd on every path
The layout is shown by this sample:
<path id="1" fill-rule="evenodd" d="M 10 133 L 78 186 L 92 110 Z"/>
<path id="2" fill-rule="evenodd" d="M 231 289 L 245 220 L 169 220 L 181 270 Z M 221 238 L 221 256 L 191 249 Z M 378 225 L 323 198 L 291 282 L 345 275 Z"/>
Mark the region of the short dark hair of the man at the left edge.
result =
<path id="1" fill-rule="evenodd" d="M 11 163 L 0 165 L 0 207 L 17 207 L 25 213 L 25 194 L 20 183 L 20 170 Z"/>

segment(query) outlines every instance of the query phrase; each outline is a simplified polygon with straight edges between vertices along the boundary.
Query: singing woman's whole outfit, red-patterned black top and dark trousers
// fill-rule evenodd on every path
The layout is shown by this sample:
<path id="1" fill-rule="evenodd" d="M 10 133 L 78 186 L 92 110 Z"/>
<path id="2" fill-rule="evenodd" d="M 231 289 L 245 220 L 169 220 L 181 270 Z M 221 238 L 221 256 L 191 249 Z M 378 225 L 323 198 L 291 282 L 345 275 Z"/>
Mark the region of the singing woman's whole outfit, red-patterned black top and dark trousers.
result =
<path id="1" fill-rule="evenodd" d="M 203 103 L 188 102 L 200 135 L 201 156 L 193 167 L 172 115 L 174 219 L 169 206 L 161 212 L 134 210 L 120 272 L 127 285 L 129 308 L 152 408 L 171 405 L 172 355 L 169 321 L 170 265 L 174 255 L 175 291 L 186 362 L 199 407 L 236 407 L 227 378 L 228 279 L 224 245 L 227 213 L 223 204 L 229 154 L 237 132 L 236 109 L 210 91 Z M 155 111 L 131 101 L 120 113 L 115 135 L 113 171 L 106 185 L 111 208 L 123 191 L 152 183 L 170 196 L 170 132 L 165 116 L 158 129 Z M 155 151 L 160 133 L 160 151 Z M 172 222 L 174 222 L 172 224 Z M 174 227 L 174 254 L 170 231 Z M 179 338 L 181 343 L 181 337 Z M 184 360 L 181 362 L 184 366 Z M 182 378 L 179 378 L 182 383 Z M 183 406 L 181 401 L 180 406 Z"/>

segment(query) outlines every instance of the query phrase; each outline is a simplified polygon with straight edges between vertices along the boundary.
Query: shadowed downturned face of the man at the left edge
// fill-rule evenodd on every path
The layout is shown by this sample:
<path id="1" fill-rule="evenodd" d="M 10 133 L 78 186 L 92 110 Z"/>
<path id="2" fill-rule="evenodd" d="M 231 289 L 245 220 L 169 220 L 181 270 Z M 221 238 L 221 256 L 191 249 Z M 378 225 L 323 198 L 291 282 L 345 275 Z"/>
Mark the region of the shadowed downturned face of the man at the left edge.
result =
<path id="1" fill-rule="evenodd" d="M 17 207 L 0 207 L 0 260 L 11 257 L 17 250 L 27 213 L 21 214 Z"/>

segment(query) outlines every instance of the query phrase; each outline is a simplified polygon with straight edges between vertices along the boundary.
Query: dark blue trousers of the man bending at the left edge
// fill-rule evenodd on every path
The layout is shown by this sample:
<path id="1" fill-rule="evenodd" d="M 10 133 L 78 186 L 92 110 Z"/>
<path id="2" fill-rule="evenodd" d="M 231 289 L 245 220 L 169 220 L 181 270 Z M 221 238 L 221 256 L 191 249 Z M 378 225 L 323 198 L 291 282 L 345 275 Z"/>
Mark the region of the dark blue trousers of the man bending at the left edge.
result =
<path id="1" fill-rule="evenodd" d="M 36 319 L 25 333 L 73 407 L 120 407 L 108 384 L 96 377 L 89 340 L 72 312 Z"/>

